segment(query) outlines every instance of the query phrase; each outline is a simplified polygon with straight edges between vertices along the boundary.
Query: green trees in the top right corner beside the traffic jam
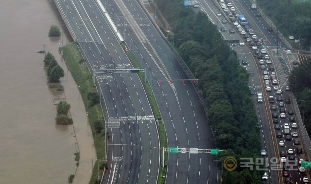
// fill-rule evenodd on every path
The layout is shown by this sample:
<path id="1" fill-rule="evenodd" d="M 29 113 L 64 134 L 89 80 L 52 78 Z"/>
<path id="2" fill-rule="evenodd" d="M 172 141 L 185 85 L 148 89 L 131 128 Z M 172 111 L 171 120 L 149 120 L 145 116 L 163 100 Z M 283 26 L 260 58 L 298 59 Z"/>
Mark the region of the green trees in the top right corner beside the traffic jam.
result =
<path id="1" fill-rule="evenodd" d="M 311 42 L 311 1 L 306 0 L 257 0 L 260 8 L 276 23 L 285 35 L 299 39 L 302 48 L 310 50 Z"/>

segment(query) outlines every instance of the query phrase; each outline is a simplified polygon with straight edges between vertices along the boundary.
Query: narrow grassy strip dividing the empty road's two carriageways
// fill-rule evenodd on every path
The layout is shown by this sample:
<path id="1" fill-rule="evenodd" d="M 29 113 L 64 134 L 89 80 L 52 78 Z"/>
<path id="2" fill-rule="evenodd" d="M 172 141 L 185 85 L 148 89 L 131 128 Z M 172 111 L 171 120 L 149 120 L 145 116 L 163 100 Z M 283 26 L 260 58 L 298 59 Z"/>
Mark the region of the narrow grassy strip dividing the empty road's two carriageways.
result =
<path id="1" fill-rule="evenodd" d="M 129 57 L 129 59 L 132 61 L 132 64 L 134 65 L 134 67 L 135 68 L 140 68 L 139 62 L 135 58 L 133 52 L 128 50 L 127 51 L 127 55 Z M 150 84 L 148 83 L 147 80 L 145 82 L 145 73 L 139 73 L 138 76 L 140 77 L 141 82 L 142 82 L 142 84 L 143 84 L 143 86 L 145 88 L 145 91 L 146 91 L 147 97 L 149 99 L 152 111 L 153 111 L 153 113 L 155 115 L 155 119 L 158 122 L 157 125 L 158 125 L 159 137 L 160 137 L 160 144 L 161 144 L 160 146 L 161 146 L 161 148 L 167 147 L 165 127 L 164 127 L 164 124 L 162 123 L 162 118 L 161 118 L 160 110 L 157 107 L 157 104 L 156 104 L 156 101 L 155 101 L 155 96 L 152 95 L 151 86 L 150 86 Z M 164 156 L 165 163 L 166 163 L 166 159 L 167 159 L 167 154 L 165 154 L 165 156 Z M 161 163 L 162 163 L 162 160 L 161 160 Z M 159 176 L 158 176 L 158 182 L 157 182 L 158 184 L 163 184 L 164 183 L 165 170 L 166 170 L 166 167 L 164 167 L 164 168 L 161 167 L 160 168 Z"/>

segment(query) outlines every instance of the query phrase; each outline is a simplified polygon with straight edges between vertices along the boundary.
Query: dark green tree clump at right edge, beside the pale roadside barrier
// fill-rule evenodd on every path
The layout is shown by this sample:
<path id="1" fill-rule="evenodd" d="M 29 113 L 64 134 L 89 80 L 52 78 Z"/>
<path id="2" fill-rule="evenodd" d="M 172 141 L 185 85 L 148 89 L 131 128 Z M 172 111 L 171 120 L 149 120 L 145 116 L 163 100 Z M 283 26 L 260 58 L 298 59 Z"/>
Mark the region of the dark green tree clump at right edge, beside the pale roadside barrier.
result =
<path id="1" fill-rule="evenodd" d="M 289 86 L 298 100 L 301 118 L 304 119 L 306 129 L 311 135 L 311 59 L 300 63 L 289 76 Z M 304 100 L 304 101 L 302 101 Z M 304 118 L 303 118 L 304 116 Z"/>

